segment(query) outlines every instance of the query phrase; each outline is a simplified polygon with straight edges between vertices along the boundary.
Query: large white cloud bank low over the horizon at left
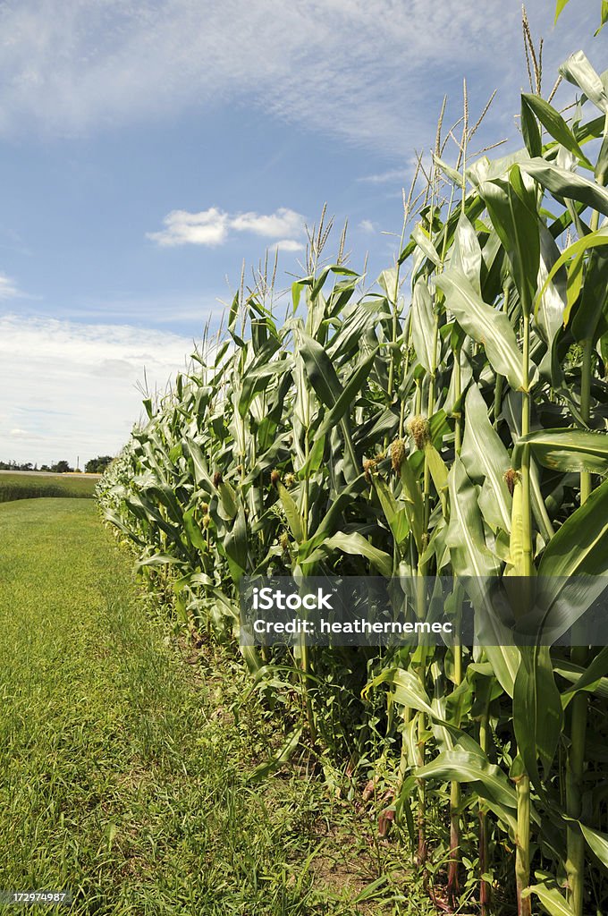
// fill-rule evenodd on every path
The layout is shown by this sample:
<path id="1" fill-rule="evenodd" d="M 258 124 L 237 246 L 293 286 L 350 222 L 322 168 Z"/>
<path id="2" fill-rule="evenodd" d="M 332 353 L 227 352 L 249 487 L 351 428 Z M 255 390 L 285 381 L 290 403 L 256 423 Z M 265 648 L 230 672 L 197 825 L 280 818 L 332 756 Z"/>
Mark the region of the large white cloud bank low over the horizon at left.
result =
<path id="1" fill-rule="evenodd" d="M 164 390 L 193 349 L 125 325 L 0 318 L 0 458 L 82 466 L 118 452 L 140 415 L 144 369 L 149 390 Z"/>

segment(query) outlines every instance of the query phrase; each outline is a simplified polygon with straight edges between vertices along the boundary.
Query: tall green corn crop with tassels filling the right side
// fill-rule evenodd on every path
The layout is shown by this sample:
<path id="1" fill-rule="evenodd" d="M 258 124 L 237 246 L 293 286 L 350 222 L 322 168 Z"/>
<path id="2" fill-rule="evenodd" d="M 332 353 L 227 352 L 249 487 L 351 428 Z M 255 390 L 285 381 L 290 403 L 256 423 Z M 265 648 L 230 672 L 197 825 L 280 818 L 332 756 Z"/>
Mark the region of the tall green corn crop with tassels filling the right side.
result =
<path id="1" fill-rule="evenodd" d="M 440 123 L 375 286 L 321 217 L 146 399 L 99 499 L 190 630 L 236 646 L 254 573 L 453 577 L 454 615 L 466 577 L 608 574 L 608 80 L 572 55 L 566 118 L 530 53 L 525 146 L 470 161 L 465 103 L 449 165 Z M 285 731 L 252 778 L 364 787 L 444 910 L 608 912 L 608 648 L 241 651 Z"/>

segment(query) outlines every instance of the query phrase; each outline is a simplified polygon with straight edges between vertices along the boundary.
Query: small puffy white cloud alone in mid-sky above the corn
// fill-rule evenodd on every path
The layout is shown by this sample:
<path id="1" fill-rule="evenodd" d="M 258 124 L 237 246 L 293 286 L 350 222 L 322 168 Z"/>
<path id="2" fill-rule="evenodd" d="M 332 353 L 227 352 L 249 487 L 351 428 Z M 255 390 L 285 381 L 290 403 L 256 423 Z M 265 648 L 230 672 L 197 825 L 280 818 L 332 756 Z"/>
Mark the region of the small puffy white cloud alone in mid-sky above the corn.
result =
<path id="1" fill-rule="evenodd" d="M 302 245 L 294 240 L 304 230 L 304 217 L 287 207 L 279 207 L 275 213 L 225 213 L 217 207 L 203 210 L 201 213 L 188 213 L 186 210 L 173 210 L 163 220 L 166 228 L 161 232 L 147 233 L 147 238 L 158 245 L 173 247 L 175 245 L 223 245 L 228 240 L 230 230 L 233 232 L 250 232 L 269 239 L 281 239 L 285 250 L 300 251 Z M 297 245 L 288 247 L 286 245 Z"/>

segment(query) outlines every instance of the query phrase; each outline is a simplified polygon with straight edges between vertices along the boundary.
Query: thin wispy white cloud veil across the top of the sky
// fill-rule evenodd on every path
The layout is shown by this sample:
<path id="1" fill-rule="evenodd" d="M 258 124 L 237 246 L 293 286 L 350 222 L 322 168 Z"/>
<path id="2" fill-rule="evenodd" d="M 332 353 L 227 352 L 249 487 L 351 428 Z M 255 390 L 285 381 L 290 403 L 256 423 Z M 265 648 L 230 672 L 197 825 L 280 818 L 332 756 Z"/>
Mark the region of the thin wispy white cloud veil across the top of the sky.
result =
<path id="1" fill-rule="evenodd" d="M 589 16 L 568 5 L 553 30 L 547 0 L 529 0 L 548 74 L 590 38 L 589 4 Z M 487 0 L 483 16 L 461 0 L 432 10 L 428 0 L 7 0 L 0 131 L 78 134 L 238 100 L 403 154 L 429 145 L 455 76 L 472 91 L 477 77 L 480 95 L 508 84 L 516 103 L 519 16 L 503 0 Z"/>

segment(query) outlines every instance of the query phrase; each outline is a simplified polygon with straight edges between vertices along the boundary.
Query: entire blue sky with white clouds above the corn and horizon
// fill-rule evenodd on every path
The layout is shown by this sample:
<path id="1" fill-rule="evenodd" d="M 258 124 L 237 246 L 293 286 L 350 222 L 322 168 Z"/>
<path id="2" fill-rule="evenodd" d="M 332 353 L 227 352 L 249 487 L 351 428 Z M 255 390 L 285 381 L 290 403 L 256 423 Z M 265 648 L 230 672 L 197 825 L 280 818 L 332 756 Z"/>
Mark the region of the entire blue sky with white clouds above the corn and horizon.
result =
<path id="1" fill-rule="evenodd" d="M 573 50 L 608 65 L 599 0 L 528 15 L 545 94 Z M 9 0 L 0 41 L 5 460 L 115 453 L 144 366 L 164 387 L 267 247 L 287 287 L 323 202 L 353 267 L 389 267 L 414 150 L 463 77 L 473 117 L 499 90 L 478 146 L 519 146 L 515 0 Z"/>

